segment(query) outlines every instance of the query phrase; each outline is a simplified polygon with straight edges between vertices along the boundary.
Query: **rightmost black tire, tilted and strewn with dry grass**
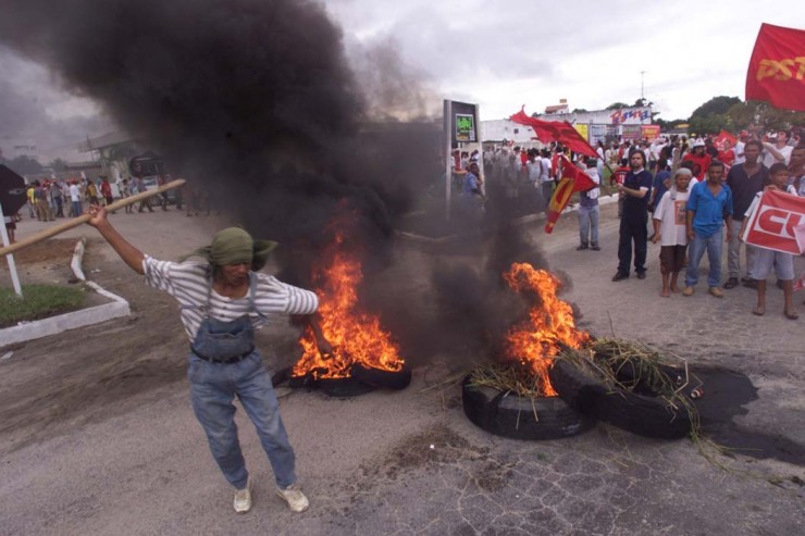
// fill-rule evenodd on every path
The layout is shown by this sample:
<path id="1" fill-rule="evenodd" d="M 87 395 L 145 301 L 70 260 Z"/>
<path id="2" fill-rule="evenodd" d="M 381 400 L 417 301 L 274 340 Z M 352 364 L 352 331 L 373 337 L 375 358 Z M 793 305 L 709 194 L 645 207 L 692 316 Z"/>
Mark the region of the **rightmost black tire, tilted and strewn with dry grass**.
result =
<path id="1" fill-rule="evenodd" d="M 549 375 L 562 400 L 586 415 L 646 437 L 680 439 L 691 433 L 691 417 L 683 406 L 673 408 L 656 396 L 610 389 L 565 359 L 556 360 Z"/>

